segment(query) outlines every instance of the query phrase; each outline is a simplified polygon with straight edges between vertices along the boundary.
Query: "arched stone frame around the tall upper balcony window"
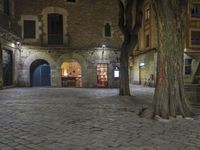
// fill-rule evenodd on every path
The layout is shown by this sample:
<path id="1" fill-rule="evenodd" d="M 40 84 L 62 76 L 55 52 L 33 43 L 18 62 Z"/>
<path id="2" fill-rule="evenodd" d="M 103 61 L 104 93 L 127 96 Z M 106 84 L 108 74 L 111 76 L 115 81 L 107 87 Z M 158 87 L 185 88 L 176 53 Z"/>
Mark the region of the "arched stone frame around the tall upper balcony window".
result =
<path id="1" fill-rule="evenodd" d="M 42 21 L 42 31 L 43 31 L 43 43 L 44 45 L 48 45 L 48 14 L 56 13 L 63 16 L 63 44 L 68 44 L 68 12 L 66 9 L 61 7 L 46 7 L 43 9 L 41 13 L 41 21 Z"/>

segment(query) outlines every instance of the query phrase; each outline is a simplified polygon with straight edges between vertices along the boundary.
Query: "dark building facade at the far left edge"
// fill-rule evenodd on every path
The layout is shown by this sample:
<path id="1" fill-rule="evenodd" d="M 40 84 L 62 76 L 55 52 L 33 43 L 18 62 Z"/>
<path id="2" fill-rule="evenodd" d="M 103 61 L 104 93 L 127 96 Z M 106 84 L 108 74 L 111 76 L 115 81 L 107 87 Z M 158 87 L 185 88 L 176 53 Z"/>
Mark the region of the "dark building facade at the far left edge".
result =
<path id="1" fill-rule="evenodd" d="M 0 0 L 0 88 L 13 86 L 18 80 L 19 26 L 15 21 L 14 2 Z"/>

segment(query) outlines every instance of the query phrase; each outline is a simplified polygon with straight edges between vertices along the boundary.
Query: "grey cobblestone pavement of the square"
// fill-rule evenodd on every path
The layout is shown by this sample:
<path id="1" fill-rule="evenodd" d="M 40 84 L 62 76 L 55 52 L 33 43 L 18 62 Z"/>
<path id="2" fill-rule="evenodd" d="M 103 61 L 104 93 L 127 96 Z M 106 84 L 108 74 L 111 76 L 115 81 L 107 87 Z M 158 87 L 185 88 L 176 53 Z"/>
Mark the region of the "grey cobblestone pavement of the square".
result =
<path id="1" fill-rule="evenodd" d="M 0 91 L 0 150 L 200 150 L 200 117 L 139 118 L 154 89 L 13 88 Z"/>

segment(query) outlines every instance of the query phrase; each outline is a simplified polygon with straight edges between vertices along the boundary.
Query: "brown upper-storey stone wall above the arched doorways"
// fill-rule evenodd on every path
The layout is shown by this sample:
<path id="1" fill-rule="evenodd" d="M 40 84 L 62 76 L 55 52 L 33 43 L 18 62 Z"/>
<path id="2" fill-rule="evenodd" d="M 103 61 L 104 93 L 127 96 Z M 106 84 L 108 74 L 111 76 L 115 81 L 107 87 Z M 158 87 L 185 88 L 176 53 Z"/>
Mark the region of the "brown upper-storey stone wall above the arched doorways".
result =
<path id="1" fill-rule="evenodd" d="M 39 38 L 36 38 L 34 45 L 47 43 L 48 13 L 63 15 L 64 44 L 73 49 L 100 47 L 102 44 L 106 44 L 109 48 L 119 48 L 122 42 L 118 28 L 116 0 L 81 0 L 74 4 L 64 0 L 16 0 L 15 9 L 17 20 L 22 28 L 23 16 L 37 19 L 36 30 Z M 112 37 L 110 38 L 103 36 L 105 22 L 111 23 Z M 33 45 L 33 41 L 23 42 Z"/>

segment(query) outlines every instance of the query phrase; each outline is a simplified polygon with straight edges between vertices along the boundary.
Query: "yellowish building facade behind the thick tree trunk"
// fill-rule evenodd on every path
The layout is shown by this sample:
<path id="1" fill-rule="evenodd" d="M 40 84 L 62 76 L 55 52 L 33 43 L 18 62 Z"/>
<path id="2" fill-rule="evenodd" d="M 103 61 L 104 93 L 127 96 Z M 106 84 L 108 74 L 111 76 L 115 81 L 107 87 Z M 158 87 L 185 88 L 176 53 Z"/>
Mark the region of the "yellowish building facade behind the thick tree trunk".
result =
<path id="1" fill-rule="evenodd" d="M 149 0 L 143 6 L 143 23 L 138 47 L 130 57 L 130 81 L 136 84 L 155 85 L 157 68 L 157 31 L 155 13 Z M 188 3 L 187 30 L 184 51 L 185 84 L 200 83 L 200 2 Z"/>

